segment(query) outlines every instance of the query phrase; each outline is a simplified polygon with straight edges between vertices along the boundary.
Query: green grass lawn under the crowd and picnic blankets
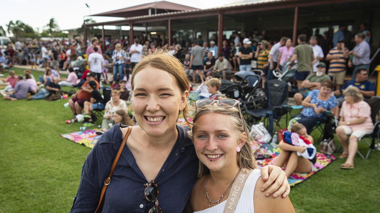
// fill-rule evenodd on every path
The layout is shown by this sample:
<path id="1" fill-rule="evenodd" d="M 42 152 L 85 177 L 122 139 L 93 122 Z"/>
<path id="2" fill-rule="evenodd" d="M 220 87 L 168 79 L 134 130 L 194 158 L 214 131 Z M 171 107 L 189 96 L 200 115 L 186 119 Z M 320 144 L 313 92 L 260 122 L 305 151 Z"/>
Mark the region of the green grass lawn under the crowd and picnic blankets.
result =
<path id="1" fill-rule="evenodd" d="M 32 74 L 38 78 L 43 73 Z M 72 117 L 63 107 L 66 102 L 0 100 L 0 213 L 70 211 L 91 149 L 60 137 L 81 126 L 65 124 Z M 366 148 L 359 145 L 362 153 Z M 368 160 L 356 155 L 351 170 L 340 169 L 344 160 L 335 156 L 332 164 L 291 188 L 296 212 L 378 212 L 380 153 L 372 151 Z"/>

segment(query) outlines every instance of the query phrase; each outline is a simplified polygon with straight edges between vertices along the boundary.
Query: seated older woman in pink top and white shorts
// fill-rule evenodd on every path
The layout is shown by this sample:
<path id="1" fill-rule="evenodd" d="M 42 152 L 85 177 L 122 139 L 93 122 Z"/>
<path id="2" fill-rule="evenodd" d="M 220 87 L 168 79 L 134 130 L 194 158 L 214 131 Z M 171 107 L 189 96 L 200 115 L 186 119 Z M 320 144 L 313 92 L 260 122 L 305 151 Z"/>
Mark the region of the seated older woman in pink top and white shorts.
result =
<path id="1" fill-rule="evenodd" d="M 346 162 L 341 164 L 340 168 L 352 169 L 358 150 L 358 141 L 372 131 L 374 124 L 371 119 L 371 108 L 368 103 L 363 101 L 363 95 L 357 87 L 351 86 L 343 94 L 345 102 L 340 110 L 336 136 L 343 146 L 343 153 L 339 158 L 346 158 L 348 155 Z M 347 135 L 350 135 L 349 145 L 347 144 Z"/>

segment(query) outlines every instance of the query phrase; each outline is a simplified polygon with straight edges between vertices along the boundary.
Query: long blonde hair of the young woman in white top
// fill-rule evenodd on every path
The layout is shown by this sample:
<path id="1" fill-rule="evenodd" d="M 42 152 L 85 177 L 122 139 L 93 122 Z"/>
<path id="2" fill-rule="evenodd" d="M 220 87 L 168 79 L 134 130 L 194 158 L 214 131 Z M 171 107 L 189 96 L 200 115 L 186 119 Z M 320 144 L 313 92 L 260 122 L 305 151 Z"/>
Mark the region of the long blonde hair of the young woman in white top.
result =
<path id="1" fill-rule="evenodd" d="M 207 114 L 207 113 L 220 113 L 220 114 L 225 114 L 227 116 L 231 117 L 231 122 L 236 128 L 237 132 L 239 132 L 239 140 L 245 139 L 245 144 L 243 147 L 241 147 L 240 152 L 237 152 L 237 165 L 240 168 L 245 168 L 245 169 L 256 169 L 257 168 L 257 163 L 255 158 L 253 157 L 253 152 L 252 152 L 252 141 L 254 139 L 249 133 L 249 128 L 247 126 L 247 123 L 240 118 L 239 110 L 236 107 L 232 108 L 225 108 L 225 107 L 219 107 L 218 105 L 210 105 L 202 108 L 198 108 L 195 111 L 195 115 L 193 118 L 193 127 L 192 127 L 192 132 L 189 132 L 189 136 L 192 138 L 194 141 L 194 130 L 196 127 L 199 125 L 198 119 L 200 116 Z M 243 133 L 245 133 L 247 136 L 244 136 Z M 198 177 L 201 177 L 204 174 L 209 173 L 209 169 L 201 162 L 199 161 L 199 167 L 198 167 Z"/>

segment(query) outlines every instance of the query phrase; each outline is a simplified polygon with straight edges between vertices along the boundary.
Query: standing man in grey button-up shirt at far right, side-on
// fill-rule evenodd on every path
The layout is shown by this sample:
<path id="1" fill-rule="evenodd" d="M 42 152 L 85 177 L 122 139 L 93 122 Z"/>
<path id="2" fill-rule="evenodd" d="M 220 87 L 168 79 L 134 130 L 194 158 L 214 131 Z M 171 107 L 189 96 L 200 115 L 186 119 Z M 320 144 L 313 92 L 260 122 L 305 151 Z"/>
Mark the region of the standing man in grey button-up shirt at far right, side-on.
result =
<path id="1" fill-rule="evenodd" d="M 355 35 L 356 46 L 353 50 L 348 52 L 349 55 L 353 55 L 352 63 L 348 61 L 348 66 L 354 66 L 354 70 L 352 73 L 352 80 L 355 80 L 356 70 L 358 69 L 369 69 L 370 58 L 369 54 L 371 52 L 369 44 L 364 41 L 366 39 L 366 35 L 363 33 L 357 33 Z"/>

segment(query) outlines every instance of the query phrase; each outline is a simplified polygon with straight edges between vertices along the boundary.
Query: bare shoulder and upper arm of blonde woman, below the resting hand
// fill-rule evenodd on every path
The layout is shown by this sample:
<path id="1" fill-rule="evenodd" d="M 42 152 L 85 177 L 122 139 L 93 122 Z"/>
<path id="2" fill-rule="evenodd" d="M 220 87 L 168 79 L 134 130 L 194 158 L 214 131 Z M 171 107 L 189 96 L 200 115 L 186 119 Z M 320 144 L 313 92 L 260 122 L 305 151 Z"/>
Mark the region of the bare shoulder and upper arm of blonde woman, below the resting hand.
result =
<path id="1" fill-rule="evenodd" d="M 253 194 L 253 206 L 255 212 L 267 212 L 267 213 L 276 213 L 276 212 L 283 212 L 283 213 L 293 213 L 294 207 L 290 202 L 289 197 L 285 198 L 277 198 L 274 199 L 273 197 L 265 197 L 264 193 L 261 192 L 260 186 L 264 184 L 264 181 L 262 178 L 259 178 L 256 182 L 255 186 L 255 192 Z"/>

